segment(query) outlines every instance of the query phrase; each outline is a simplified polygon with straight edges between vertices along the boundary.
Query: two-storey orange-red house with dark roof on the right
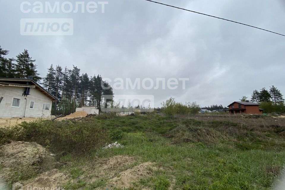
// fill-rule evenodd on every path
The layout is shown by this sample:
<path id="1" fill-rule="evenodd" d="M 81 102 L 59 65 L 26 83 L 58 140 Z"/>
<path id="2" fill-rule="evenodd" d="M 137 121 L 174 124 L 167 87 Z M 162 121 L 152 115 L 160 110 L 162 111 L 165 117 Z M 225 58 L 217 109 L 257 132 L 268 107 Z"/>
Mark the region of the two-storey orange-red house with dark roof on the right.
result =
<path id="1" fill-rule="evenodd" d="M 259 108 L 260 104 L 249 102 L 232 102 L 228 105 L 229 109 L 224 110 L 229 112 L 229 114 L 262 114 L 263 109 Z"/>

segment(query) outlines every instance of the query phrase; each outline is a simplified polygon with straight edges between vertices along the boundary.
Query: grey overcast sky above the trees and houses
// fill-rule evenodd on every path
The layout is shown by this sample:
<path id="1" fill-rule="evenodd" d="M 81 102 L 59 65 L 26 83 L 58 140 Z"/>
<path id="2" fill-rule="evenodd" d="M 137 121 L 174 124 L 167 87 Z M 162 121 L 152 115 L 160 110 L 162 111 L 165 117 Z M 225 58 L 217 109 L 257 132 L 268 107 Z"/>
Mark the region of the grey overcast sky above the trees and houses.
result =
<path id="1" fill-rule="evenodd" d="M 282 0 L 157 1 L 285 34 Z M 41 77 L 53 64 L 112 80 L 190 79 L 185 90 L 181 82 L 176 90 L 114 90 L 154 95 L 156 107 L 170 96 L 201 106 L 229 105 L 271 85 L 285 94 L 285 37 L 144 0 L 109 0 L 105 13 L 68 14 L 23 13 L 22 2 L 0 0 L 0 45 L 10 50 L 7 57 L 29 50 Z M 72 18 L 74 33 L 22 36 L 22 18 Z"/>

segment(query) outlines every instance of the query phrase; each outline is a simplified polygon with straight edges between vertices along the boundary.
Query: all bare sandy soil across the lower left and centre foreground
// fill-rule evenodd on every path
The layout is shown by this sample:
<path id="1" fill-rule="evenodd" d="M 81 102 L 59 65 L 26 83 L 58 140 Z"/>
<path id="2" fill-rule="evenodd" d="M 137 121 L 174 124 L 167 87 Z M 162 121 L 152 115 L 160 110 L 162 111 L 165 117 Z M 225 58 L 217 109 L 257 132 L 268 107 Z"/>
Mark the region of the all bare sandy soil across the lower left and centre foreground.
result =
<path id="1" fill-rule="evenodd" d="M 107 180 L 106 187 L 102 189 L 132 188 L 133 183 L 141 178 L 148 178 L 157 168 L 151 162 L 137 163 L 132 156 L 114 156 L 107 159 L 90 160 L 83 165 L 84 173 L 77 179 L 72 179 L 66 171 L 60 171 L 56 166 L 55 158 L 44 147 L 37 143 L 12 142 L 0 146 L 0 182 L 8 183 L 15 172 L 25 172 L 29 175 L 27 180 L 19 181 L 24 189 L 32 187 L 34 190 L 49 188 L 62 188 L 69 180 L 72 183 L 82 179 L 88 183 L 102 178 Z M 36 174 L 36 176 L 34 175 Z M 32 177 L 33 176 L 33 177 Z M 1 183 L 0 183 L 1 188 Z M 140 189 L 148 189 L 140 187 Z"/>

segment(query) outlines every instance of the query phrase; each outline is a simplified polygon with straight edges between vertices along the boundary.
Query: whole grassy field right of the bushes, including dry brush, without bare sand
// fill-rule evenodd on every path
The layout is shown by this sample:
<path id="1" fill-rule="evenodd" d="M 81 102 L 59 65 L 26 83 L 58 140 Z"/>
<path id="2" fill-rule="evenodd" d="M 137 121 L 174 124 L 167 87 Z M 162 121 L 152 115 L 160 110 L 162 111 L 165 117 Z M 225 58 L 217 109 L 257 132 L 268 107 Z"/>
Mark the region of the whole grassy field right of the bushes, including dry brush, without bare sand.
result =
<path id="1" fill-rule="evenodd" d="M 81 166 L 91 159 L 129 155 L 136 163 L 153 162 L 158 170 L 134 182 L 134 189 L 270 189 L 285 164 L 285 126 L 265 124 L 266 118 L 240 122 L 166 117 L 98 117 L 80 121 L 106 130 L 110 142 L 124 148 L 97 148 L 88 155 L 68 153 L 58 158 L 72 181 L 65 189 L 104 188 L 109 179 L 78 181 Z M 270 122 L 268 122 L 270 123 Z M 280 122 L 282 123 L 282 122 Z M 284 122 L 283 122 L 284 123 Z M 53 126 L 56 122 L 53 123 Z M 58 122 L 62 126 L 61 122 Z M 88 128 L 89 129 L 89 128 Z M 52 146 L 52 145 L 51 145 Z M 139 188 L 138 188 L 139 189 Z"/>

